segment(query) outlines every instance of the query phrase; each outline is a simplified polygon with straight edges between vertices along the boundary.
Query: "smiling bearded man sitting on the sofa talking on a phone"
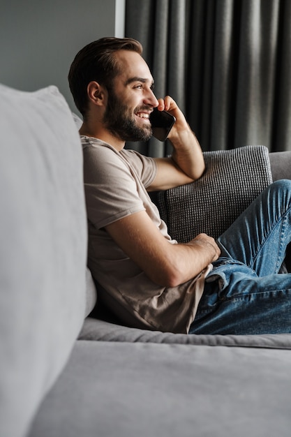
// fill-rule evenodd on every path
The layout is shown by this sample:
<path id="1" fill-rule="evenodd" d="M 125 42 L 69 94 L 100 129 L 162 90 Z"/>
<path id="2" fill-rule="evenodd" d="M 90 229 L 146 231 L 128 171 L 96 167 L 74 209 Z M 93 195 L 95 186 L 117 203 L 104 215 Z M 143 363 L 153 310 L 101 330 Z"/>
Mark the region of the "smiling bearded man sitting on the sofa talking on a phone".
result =
<path id="1" fill-rule="evenodd" d="M 217 242 L 178 244 L 148 192 L 201 177 L 200 145 L 154 80 L 131 38 L 102 38 L 76 55 L 68 75 L 84 117 L 89 268 L 98 296 L 121 323 L 205 334 L 291 332 L 291 274 L 277 274 L 291 239 L 291 181 L 267 188 Z M 153 108 L 176 117 L 171 158 L 124 149 L 151 137 Z"/>

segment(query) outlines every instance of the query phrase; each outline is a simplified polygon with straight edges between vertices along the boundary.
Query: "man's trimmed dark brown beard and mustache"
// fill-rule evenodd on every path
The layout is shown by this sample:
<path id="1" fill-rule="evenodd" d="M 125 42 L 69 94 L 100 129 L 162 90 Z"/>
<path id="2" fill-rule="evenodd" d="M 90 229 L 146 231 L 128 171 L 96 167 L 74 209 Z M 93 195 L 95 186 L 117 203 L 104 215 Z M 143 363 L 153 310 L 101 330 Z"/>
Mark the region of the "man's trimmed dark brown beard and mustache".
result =
<path id="1" fill-rule="evenodd" d="M 149 109 L 149 106 L 143 105 L 135 108 L 135 112 Z M 148 141 L 153 134 L 149 123 L 144 123 L 144 126 L 137 125 L 128 106 L 124 105 L 112 90 L 108 90 L 103 122 L 110 133 L 123 141 Z"/>

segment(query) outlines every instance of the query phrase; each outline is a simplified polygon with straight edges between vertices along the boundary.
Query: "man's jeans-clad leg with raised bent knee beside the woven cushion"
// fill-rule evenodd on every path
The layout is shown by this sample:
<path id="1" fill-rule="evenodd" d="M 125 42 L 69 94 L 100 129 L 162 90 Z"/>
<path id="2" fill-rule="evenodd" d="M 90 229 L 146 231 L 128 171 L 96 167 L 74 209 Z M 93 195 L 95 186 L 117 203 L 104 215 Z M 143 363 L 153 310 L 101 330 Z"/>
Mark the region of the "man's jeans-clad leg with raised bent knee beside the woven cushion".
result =
<path id="1" fill-rule="evenodd" d="M 291 180 L 268 186 L 218 237 L 221 256 L 233 258 L 258 276 L 278 273 L 291 240 Z"/>

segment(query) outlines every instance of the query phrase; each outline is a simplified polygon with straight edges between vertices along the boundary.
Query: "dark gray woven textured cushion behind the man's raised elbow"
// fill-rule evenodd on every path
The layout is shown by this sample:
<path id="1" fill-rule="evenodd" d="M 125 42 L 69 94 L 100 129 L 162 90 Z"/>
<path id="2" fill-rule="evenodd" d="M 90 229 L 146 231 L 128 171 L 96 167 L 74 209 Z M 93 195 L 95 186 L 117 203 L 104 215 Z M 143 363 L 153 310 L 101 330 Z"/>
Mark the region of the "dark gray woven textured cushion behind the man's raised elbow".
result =
<path id="1" fill-rule="evenodd" d="M 185 243 L 204 232 L 221 235 L 272 182 L 264 146 L 204 152 L 207 170 L 197 181 L 157 195 L 169 234 Z"/>

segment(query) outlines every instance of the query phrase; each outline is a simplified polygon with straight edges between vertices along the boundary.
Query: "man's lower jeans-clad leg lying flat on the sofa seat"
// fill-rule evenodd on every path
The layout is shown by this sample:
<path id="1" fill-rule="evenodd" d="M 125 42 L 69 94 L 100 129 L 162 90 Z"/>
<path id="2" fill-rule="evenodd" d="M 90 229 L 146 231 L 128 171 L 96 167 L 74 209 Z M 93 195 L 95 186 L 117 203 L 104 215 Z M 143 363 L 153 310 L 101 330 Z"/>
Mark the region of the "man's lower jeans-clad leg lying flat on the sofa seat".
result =
<path id="1" fill-rule="evenodd" d="M 206 283 L 189 334 L 291 333 L 291 274 L 259 277 L 235 264 L 218 269 L 223 287 Z"/>

